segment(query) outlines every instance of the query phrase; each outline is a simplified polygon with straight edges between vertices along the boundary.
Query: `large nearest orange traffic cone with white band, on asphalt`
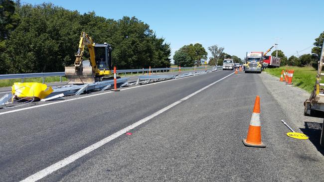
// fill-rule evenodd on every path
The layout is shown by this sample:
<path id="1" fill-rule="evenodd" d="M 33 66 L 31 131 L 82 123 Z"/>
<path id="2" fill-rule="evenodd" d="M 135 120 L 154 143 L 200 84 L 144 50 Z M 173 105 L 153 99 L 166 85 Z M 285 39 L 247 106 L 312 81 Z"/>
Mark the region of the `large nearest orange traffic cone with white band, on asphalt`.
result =
<path id="1" fill-rule="evenodd" d="M 266 147 L 261 141 L 261 123 L 260 123 L 260 96 L 257 95 L 254 102 L 253 113 L 250 121 L 249 131 L 243 144 L 249 147 Z"/>

